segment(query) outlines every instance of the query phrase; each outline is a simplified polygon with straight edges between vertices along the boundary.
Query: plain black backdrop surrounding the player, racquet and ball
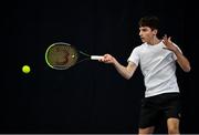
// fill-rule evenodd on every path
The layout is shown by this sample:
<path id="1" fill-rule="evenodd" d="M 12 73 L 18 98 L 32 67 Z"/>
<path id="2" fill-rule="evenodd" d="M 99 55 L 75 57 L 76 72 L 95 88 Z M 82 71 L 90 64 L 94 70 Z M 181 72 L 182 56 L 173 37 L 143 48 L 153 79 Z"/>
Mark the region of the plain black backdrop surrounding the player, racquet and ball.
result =
<path id="1" fill-rule="evenodd" d="M 91 54 L 113 54 L 127 64 L 142 42 L 138 20 L 160 19 L 160 35 L 172 37 L 192 70 L 178 66 L 181 133 L 197 133 L 196 40 L 188 2 L 169 0 L 15 0 L 2 6 L 0 133 L 137 133 L 144 81 L 138 69 L 126 81 L 108 64 L 83 62 L 67 71 L 44 60 L 53 42 Z M 22 65 L 31 72 L 24 74 Z M 167 133 L 164 121 L 156 133 Z"/>

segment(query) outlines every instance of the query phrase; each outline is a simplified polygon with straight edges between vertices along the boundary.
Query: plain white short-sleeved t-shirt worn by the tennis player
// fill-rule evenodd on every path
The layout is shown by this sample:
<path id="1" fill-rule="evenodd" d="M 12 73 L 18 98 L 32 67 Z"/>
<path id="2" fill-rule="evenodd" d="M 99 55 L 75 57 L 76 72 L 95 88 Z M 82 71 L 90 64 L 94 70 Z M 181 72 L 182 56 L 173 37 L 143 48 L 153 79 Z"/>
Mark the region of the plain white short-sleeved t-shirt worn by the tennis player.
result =
<path id="1" fill-rule="evenodd" d="M 176 77 L 177 56 L 174 52 L 163 48 L 166 48 L 163 41 L 155 45 L 143 43 L 133 50 L 127 60 L 136 65 L 140 64 L 145 77 L 145 97 L 179 92 Z"/>

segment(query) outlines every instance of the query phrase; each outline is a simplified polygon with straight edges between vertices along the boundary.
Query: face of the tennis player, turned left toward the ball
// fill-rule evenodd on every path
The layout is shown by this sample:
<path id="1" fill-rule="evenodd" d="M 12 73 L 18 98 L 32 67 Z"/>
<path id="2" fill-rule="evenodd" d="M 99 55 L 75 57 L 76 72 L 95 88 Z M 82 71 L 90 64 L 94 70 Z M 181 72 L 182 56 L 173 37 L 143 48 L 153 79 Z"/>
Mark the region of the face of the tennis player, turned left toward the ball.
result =
<path id="1" fill-rule="evenodd" d="M 149 27 L 139 28 L 139 37 L 143 42 L 151 43 L 156 37 L 157 30 L 151 30 Z"/>

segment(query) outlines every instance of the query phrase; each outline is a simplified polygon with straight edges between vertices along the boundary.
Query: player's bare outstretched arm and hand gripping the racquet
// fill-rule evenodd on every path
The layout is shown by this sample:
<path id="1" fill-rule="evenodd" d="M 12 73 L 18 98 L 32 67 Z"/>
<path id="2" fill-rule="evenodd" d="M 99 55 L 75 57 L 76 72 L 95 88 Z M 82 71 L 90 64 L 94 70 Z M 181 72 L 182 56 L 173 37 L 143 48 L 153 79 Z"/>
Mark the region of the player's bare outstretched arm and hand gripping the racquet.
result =
<path id="1" fill-rule="evenodd" d="M 137 65 L 134 62 L 128 62 L 126 66 L 122 65 L 114 56 L 111 54 L 105 54 L 104 59 L 101 60 L 104 63 L 109 63 L 115 66 L 117 72 L 125 79 L 129 80 L 134 72 L 137 69 Z"/>

